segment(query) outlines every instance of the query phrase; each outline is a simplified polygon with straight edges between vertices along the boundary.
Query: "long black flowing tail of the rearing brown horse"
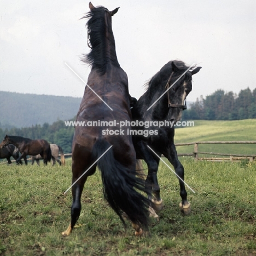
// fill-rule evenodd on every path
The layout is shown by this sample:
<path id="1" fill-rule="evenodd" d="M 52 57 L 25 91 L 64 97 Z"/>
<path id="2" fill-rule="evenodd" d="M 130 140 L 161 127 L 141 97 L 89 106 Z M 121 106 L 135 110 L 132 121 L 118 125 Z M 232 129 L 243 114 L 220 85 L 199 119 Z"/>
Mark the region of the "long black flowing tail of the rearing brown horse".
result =
<path id="1" fill-rule="evenodd" d="M 107 141 L 98 139 L 92 149 L 92 156 L 98 159 L 109 147 Z M 132 223 L 147 229 L 149 200 L 135 190 L 145 191 L 144 181 L 136 178 L 135 170 L 131 173 L 114 158 L 112 148 L 98 160 L 97 165 L 101 170 L 104 197 L 124 225 L 122 212 L 127 214 Z"/>

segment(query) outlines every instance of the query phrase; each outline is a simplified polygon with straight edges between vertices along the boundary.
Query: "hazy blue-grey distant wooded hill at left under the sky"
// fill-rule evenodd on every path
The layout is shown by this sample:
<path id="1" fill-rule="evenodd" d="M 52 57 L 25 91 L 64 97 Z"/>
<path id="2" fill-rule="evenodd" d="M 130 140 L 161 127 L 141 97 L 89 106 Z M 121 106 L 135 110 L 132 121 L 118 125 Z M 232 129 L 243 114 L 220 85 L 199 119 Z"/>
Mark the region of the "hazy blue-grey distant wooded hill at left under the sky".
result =
<path id="1" fill-rule="evenodd" d="M 0 127 L 30 127 L 72 119 L 82 98 L 0 91 Z"/>

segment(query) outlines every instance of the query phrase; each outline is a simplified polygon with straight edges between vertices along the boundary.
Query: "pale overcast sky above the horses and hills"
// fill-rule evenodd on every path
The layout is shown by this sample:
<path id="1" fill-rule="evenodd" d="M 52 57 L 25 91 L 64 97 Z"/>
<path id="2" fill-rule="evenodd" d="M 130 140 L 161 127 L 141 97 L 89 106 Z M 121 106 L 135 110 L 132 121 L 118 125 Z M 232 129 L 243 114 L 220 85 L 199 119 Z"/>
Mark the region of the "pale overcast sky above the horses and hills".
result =
<path id="1" fill-rule="evenodd" d="M 82 97 L 90 67 L 86 20 L 89 1 L 0 0 L 0 90 Z M 238 93 L 256 87 L 255 0 L 92 1 L 120 7 L 112 27 L 130 94 L 170 60 L 202 69 L 193 77 L 188 101 L 217 89 Z"/>

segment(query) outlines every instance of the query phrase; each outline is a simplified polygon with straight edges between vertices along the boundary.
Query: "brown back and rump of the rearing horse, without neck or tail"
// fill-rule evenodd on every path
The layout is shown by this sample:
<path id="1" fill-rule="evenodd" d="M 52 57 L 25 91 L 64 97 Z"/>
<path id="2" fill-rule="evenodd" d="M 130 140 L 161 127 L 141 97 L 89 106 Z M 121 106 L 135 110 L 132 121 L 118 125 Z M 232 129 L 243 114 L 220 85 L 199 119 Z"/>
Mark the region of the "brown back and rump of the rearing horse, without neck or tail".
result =
<path id="1" fill-rule="evenodd" d="M 120 67 L 114 66 L 108 71 L 109 72 L 106 72 L 104 75 L 99 75 L 92 69 L 89 74 L 88 85 L 113 109 L 113 111 L 86 86 L 77 114 L 77 121 L 85 123 L 88 121 L 104 121 L 108 122 L 108 124 L 114 120 L 116 120 L 117 123 L 125 120 L 131 121 L 132 116 L 127 75 Z M 131 155 L 135 155 L 132 137 L 125 133 L 120 136 L 104 135 L 103 131 L 107 129 L 119 130 L 119 127 L 109 125 L 75 127 L 72 153 L 76 151 L 78 144 L 79 147 L 83 147 L 85 151 L 90 151 L 96 139 L 104 137 L 112 144 L 115 156 L 122 159 L 126 158 L 130 161 Z M 126 154 L 127 156 L 125 156 Z"/>

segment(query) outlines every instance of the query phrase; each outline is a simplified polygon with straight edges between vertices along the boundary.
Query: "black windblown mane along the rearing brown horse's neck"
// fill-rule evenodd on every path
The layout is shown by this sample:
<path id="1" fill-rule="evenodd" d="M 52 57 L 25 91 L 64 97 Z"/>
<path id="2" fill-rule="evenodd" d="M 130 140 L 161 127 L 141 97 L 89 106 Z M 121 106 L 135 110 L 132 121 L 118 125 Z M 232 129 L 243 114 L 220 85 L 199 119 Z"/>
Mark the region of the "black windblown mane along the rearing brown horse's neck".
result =
<path id="1" fill-rule="evenodd" d="M 89 19 L 86 23 L 88 27 L 88 46 L 91 48 L 89 54 L 83 54 L 82 61 L 96 68 L 98 73 L 106 73 L 109 61 L 117 67 L 120 67 L 117 55 L 115 54 L 115 40 L 111 26 L 106 25 L 105 14 L 107 8 L 97 7 L 90 10 L 82 19 Z M 106 29 L 112 34 L 112 37 L 106 38 Z M 110 56 L 107 56 L 107 40 L 109 40 Z"/>

